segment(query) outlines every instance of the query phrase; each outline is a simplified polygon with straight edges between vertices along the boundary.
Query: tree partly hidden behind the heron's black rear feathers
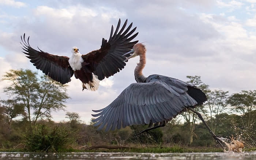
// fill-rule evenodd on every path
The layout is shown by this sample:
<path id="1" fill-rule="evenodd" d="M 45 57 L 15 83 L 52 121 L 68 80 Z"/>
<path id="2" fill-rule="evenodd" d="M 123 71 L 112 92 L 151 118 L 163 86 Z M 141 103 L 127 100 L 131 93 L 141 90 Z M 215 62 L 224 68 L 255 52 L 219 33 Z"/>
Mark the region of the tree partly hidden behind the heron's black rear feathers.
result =
<path id="1" fill-rule="evenodd" d="M 202 91 L 204 93 L 210 92 L 209 85 L 204 84 L 202 82 L 201 76 L 187 76 L 187 78 L 189 79 L 189 81 L 187 81 L 188 83 L 191 83 L 191 84 L 195 85 L 196 87 L 202 89 Z M 206 112 L 202 106 L 197 106 L 195 108 L 195 110 L 199 111 L 201 113 Z M 195 130 L 195 124 L 197 121 L 197 115 L 194 112 L 189 111 L 189 110 L 186 112 L 182 112 L 181 115 L 186 120 L 186 124 L 189 125 L 189 131 L 190 131 L 189 144 L 191 144 L 193 142 L 193 135 L 195 134 L 194 130 Z"/>

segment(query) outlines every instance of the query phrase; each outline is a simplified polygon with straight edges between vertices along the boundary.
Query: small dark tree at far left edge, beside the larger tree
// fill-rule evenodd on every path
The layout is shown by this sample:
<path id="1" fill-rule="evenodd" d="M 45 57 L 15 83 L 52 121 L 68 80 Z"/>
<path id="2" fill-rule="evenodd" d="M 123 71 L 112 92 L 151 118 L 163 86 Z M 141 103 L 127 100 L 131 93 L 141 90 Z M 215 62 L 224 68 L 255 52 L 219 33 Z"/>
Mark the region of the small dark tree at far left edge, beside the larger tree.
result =
<path id="1" fill-rule="evenodd" d="M 17 103 L 17 100 L 1 100 L 2 107 L 4 108 L 3 115 L 6 117 L 9 127 L 11 127 L 12 120 L 20 115 L 25 115 L 24 105 Z"/>

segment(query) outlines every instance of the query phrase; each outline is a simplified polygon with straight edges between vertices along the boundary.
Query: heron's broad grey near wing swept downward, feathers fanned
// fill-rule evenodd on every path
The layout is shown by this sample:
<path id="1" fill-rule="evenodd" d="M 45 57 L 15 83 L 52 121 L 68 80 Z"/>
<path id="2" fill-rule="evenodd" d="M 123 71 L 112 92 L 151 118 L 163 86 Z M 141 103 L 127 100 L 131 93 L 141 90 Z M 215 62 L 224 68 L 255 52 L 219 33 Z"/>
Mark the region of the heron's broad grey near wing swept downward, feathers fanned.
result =
<path id="1" fill-rule="evenodd" d="M 178 92 L 177 92 L 178 93 Z M 166 83 L 133 83 L 129 85 L 111 104 L 100 109 L 94 117 L 95 126 L 106 131 L 120 129 L 133 124 L 161 122 L 176 116 L 187 106 L 196 105 L 187 92 L 177 94 Z"/>

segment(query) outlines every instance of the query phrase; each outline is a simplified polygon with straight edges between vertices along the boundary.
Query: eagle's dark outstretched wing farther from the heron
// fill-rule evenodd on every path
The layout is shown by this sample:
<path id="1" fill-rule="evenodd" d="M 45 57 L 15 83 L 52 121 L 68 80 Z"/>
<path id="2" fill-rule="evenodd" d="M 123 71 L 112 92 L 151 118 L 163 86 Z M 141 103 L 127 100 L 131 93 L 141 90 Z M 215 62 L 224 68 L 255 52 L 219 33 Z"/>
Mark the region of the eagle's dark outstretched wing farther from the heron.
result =
<path id="1" fill-rule="evenodd" d="M 30 62 L 33 63 L 37 69 L 40 69 L 45 75 L 48 75 L 61 84 L 71 81 L 70 78 L 73 76 L 74 72 L 68 63 L 68 57 L 52 55 L 39 48 L 39 51 L 35 50 L 29 44 L 29 37 L 27 41 L 25 40 L 25 33 L 23 37 L 21 36 L 21 40 L 22 49 L 25 51 L 23 53 L 27 55 L 26 57 L 30 59 Z"/>

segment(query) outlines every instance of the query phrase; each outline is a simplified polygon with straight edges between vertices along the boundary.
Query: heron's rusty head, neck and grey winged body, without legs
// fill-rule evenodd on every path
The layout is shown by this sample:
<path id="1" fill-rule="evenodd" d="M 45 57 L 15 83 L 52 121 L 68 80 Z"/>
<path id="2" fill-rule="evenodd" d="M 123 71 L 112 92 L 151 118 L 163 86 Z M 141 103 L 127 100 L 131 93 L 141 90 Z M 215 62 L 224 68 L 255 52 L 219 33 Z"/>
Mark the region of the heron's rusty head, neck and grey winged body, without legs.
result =
<path id="1" fill-rule="evenodd" d="M 136 48 L 136 47 L 140 48 Z M 144 45 L 136 44 L 134 54 L 139 54 L 134 75 L 137 83 L 130 84 L 107 107 L 100 109 L 93 121 L 106 131 L 133 124 L 159 124 L 171 120 L 187 107 L 194 108 L 207 100 L 206 95 L 190 83 L 162 75 L 145 77 L 142 70 L 146 64 Z M 137 51 L 136 51 L 137 49 Z M 196 101 L 197 99 L 198 101 Z"/>

